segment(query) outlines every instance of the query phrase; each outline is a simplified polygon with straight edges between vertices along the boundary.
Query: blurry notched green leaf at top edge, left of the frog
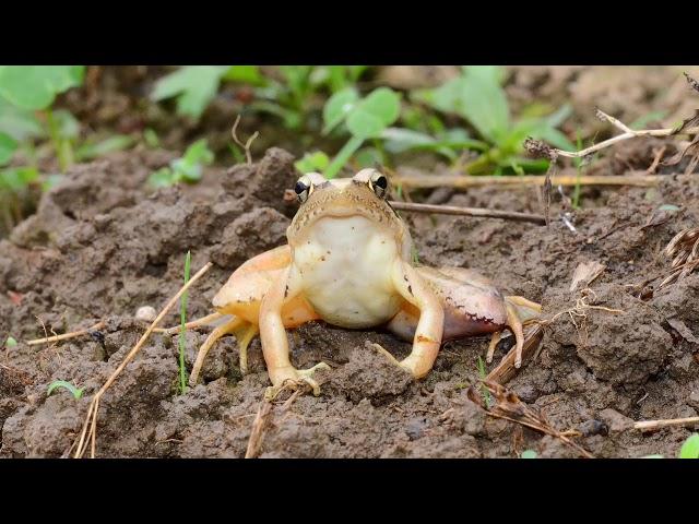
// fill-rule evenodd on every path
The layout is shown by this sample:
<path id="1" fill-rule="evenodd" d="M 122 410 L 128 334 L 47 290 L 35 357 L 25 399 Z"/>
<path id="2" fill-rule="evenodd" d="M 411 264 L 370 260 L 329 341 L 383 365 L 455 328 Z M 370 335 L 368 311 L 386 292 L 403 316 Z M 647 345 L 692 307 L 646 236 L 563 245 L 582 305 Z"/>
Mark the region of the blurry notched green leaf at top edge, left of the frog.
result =
<path id="1" fill-rule="evenodd" d="M 199 120 L 229 69 L 229 66 L 185 66 L 158 80 L 151 99 L 177 97 L 177 112 Z"/>

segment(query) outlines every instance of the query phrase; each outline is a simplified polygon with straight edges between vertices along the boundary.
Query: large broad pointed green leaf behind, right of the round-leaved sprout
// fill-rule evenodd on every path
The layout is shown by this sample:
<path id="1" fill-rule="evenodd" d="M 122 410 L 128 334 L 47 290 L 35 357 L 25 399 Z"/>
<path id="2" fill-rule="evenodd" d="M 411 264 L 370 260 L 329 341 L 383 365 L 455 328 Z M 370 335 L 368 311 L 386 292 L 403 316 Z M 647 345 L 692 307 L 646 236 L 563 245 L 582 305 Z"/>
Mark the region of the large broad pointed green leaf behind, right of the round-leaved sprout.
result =
<path id="1" fill-rule="evenodd" d="M 510 124 L 505 91 L 489 69 L 466 68 L 462 76 L 435 90 L 416 91 L 413 98 L 442 112 L 461 116 L 481 136 L 495 144 L 506 136 Z"/>

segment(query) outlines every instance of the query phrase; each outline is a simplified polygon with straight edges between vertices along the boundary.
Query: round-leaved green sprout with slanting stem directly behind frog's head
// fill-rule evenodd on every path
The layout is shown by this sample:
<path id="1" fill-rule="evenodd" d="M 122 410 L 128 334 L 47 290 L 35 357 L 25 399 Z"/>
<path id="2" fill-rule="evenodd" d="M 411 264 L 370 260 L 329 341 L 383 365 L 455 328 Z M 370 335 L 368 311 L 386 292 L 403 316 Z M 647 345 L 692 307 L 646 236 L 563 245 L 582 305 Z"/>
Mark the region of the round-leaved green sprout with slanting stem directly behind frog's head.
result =
<path id="1" fill-rule="evenodd" d="M 362 99 L 353 87 L 331 96 L 323 108 L 323 134 L 344 124 L 351 138 L 324 170 L 325 178 L 334 178 L 365 141 L 381 138 L 398 120 L 400 109 L 400 95 L 388 87 L 379 87 Z"/>

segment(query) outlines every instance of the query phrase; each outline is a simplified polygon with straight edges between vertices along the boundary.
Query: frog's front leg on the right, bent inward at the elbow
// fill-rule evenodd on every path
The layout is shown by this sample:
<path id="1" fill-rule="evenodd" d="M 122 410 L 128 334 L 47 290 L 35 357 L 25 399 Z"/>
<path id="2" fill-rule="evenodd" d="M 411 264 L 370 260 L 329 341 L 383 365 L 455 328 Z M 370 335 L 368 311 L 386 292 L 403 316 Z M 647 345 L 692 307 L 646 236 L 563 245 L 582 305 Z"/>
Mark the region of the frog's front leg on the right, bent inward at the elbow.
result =
<path id="1" fill-rule="evenodd" d="M 410 264 L 402 261 L 396 263 L 393 283 L 403 298 L 419 310 L 413 350 L 401 362 L 419 379 L 429 372 L 439 353 L 445 312 L 437 295 Z"/>

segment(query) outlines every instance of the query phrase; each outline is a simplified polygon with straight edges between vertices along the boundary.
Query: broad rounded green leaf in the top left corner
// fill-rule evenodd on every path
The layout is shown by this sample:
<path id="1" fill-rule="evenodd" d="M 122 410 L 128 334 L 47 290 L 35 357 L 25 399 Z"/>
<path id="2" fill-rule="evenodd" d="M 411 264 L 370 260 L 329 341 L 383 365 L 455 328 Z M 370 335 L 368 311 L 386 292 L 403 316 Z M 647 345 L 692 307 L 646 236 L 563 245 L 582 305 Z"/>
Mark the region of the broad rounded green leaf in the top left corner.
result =
<path id="1" fill-rule="evenodd" d="M 84 73 L 84 66 L 3 66 L 0 95 L 24 109 L 46 109 L 56 95 L 81 85 Z"/>

